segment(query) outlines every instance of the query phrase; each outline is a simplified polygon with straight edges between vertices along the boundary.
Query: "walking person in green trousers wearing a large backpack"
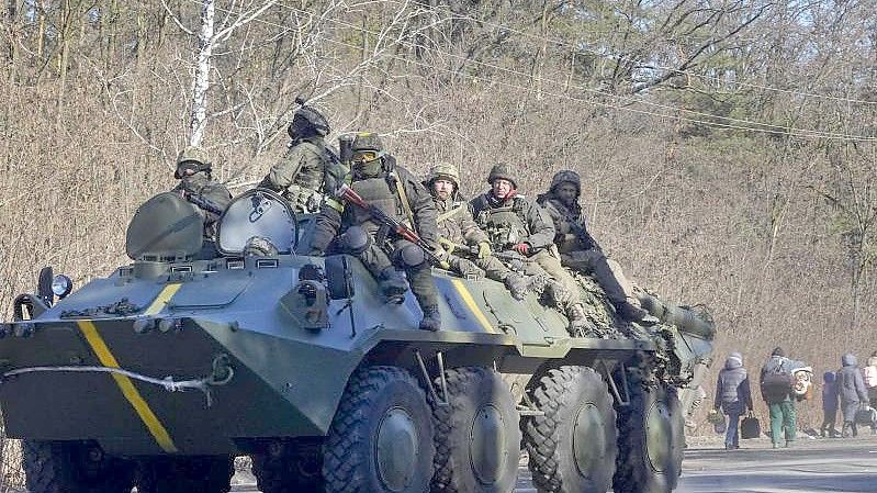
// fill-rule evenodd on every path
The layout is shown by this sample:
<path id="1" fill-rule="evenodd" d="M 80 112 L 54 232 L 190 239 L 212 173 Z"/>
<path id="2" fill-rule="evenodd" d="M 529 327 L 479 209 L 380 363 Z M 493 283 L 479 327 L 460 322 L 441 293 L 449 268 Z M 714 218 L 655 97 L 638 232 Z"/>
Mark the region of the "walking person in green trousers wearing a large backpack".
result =
<path id="1" fill-rule="evenodd" d="M 771 352 L 771 358 L 762 367 L 758 384 L 762 391 L 762 399 L 767 404 L 771 415 L 771 441 L 774 448 L 779 448 L 780 440 L 785 435 L 786 447 L 791 447 L 795 442 L 797 430 L 797 417 L 795 413 L 795 400 L 791 396 L 791 367 L 795 361 L 786 358 L 786 352 L 782 347 L 776 347 Z M 787 374 L 788 386 L 776 388 L 768 385 L 773 376 Z"/>

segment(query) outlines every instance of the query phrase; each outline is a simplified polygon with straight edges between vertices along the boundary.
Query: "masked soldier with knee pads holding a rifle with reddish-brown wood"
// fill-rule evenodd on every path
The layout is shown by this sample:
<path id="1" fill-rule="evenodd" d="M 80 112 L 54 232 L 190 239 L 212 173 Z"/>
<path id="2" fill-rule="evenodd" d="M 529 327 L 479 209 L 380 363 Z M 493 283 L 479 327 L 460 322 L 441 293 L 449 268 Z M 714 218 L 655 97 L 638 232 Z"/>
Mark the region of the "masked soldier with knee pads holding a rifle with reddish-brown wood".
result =
<path id="1" fill-rule="evenodd" d="M 371 205 L 416 228 L 427 244 L 438 249 L 436 208 L 424 186 L 407 170 L 395 166 L 378 134 L 357 134 L 351 147 L 351 170 L 345 178 L 350 188 Z M 312 255 L 322 255 L 339 232 L 344 233 L 337 246 L 362 260 L 378 279 L 387 302 L 402 303 L 411 283 L 424 312 L 420 328 L 440 328 L 438 294 L 426 253 L 420 247 L 374 221 L 368 211 L 329 199 L 316 217 Z M 405 271 L 408 283 L 395 266 Z"/>

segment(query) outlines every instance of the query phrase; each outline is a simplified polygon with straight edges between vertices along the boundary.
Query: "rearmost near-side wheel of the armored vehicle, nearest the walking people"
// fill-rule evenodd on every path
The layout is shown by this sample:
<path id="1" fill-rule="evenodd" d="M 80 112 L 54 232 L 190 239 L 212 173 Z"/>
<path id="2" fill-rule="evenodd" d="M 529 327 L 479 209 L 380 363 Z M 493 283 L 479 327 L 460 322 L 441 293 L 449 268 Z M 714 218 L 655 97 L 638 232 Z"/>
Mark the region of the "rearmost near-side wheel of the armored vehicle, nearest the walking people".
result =
<path id="1" fill-rule="evenodd" d="M 619 407 L 616 493 L 670 493 L 682 473 L 684 416 L 676 389 L 630 381 L 630 405 Z"/>

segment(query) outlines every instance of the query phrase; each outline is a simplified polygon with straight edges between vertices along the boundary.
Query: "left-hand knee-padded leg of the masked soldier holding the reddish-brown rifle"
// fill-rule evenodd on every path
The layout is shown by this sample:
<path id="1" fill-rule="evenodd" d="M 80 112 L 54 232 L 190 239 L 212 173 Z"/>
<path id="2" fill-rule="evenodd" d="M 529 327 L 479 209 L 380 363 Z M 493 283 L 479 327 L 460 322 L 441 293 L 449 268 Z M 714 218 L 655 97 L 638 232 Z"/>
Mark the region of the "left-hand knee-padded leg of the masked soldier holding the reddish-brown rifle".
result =
<path id="1" fill-rule="evenodd" d="M 390 303 L 405 301 L 408 282 L 402 272 L 393 267 L 390 257 L 375 243 L 374 238 L 358 226 L 348 228 L 339 238 L 345 251 L 357 257 L 366 269 L 378 280 L 384 298 Z"/>

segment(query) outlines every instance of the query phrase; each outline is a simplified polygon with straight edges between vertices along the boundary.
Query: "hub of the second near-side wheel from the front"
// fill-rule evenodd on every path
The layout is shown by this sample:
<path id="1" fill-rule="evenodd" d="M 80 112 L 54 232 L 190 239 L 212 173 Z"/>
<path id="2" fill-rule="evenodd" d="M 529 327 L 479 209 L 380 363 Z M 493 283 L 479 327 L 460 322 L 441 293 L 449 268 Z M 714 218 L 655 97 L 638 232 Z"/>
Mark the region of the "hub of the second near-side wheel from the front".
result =
<path id="1" fill-rule="evenodd" d="M 485 405 L 475 413 L 469 435 L 469 460 L 481 484 L 493 484 L 503 474 L 506 450 L 506 424 L 499 410 Z"/>

